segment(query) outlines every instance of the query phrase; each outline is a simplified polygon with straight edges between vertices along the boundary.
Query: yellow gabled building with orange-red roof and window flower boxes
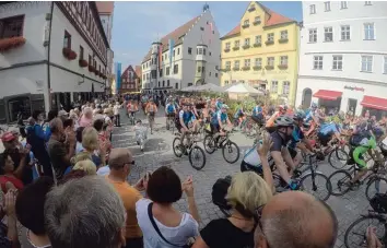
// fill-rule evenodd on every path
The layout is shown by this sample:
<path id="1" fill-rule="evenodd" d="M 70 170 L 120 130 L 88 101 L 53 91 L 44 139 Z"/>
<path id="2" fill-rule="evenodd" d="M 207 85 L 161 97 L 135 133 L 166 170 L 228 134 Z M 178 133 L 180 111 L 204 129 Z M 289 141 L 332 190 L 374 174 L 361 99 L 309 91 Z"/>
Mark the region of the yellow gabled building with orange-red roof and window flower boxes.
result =
<path id="1" fill-rule="evenodd" d="M 298 25 L 259 2 L 221 38 L 221 84 L 244 82 L 294 105 L 298 71 Z"/>

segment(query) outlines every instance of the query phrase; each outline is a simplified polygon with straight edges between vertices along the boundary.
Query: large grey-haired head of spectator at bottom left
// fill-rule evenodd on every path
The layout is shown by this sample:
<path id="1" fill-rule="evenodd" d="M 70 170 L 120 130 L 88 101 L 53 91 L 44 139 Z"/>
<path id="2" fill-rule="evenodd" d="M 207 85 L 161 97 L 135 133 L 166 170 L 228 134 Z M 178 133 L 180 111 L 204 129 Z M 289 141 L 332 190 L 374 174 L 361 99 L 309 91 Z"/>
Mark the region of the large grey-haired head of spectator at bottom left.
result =
<path id="1" fill-rule="evenodd" d="M 45 203 L 46 229 L 52 248 L 121 247 L 125 215 L 120 197 L 96 176 L 54 188 Z"/>

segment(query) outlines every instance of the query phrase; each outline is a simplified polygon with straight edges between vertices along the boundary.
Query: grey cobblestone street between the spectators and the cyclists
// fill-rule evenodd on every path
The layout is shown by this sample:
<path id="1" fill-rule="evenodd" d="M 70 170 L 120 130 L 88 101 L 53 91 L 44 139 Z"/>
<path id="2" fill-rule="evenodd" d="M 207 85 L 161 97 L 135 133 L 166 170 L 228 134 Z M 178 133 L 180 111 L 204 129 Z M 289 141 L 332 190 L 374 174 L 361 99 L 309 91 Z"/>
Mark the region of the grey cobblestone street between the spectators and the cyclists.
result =
<path id="1" fill-rule="evenodd" d="M 162 109 L 162 108 L 161 108 Z M 130 182 L 136 182 L 146 170 L 154 170 L 162 165 L 168 165 L 175 169 L 181 180 L 187 176 L 192 175 L 195 197 L 201 216 L 201 227 L 208 224 L 211 220 L 223 217 L 223 213 L 211 201 L 211 189 L 218 178 L 233 175 L 239 172 L 241 160 L 243 154 L 253 144 L 251 139 L 246 139 L 241 133 L 234 133 L 232 141 L 238 144 L 241 149 L 239 161 L 235 164 L 228 164 L 224 161 L 221 151 L 216 151 L 213 154 L 207 154 L 206 166 L 200 170 L 194 169 L 187 156 L 177 158 L 172 150 L 172 142 L 174 135 L 171 131 L 165 129 L 165 118 L 159 114 L 155 118 L 155 131 L 150 135 L 149 142 L 145 145 L 145 151 L 142 153 L 140 147 L 136 144 L 134 133 L 131 131 L 131 126 L 128 125 L 128 118 L 122 113 L 121 115 L 121 128 L 115 128 L 113 142 L 115 147 L 129 147 L 134 155 L 136 167 L 130 175 Z M 148 123 L 142 113 L 140 111 L 138 117 Z M 202 143 L 200 143 L 202 146 Z M 324 163 L 319 166 L 319 170 L 329 176 L 333 168 Z M 363 185 L 357 191 L 350 191 L 343 197 L 330 196 L 327 203 L 333 209 L 339 220 L 339 238 L 336 247 L 344 247 L 344 234 L 347 227 L 354 222 L 361 213 L 366 213 L 368 201 L 365 198 L 365 186 Z M 178 208 L 181 211 L 187 211 L 187 203 L 185 199 L 177 202 Z"/>

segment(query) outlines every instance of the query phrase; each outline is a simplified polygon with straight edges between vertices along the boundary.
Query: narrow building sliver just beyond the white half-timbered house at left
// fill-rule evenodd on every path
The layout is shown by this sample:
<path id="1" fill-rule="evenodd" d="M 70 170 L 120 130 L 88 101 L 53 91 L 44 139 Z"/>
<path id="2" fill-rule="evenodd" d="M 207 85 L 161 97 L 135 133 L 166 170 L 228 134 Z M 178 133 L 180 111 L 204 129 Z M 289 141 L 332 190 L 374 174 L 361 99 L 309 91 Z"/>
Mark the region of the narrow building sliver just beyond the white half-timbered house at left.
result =
<path id="1" fill-rule="evenodd" d="M 112 31 L 113 31 L 113 16 L 114 16 L 114 2 L 96 2 L 98 14 L 101 19 L 102 26 L 104 27 L 107 42 L 109 45 L 112 44 Z M 114 79 L 113 76 L 113 62 L 114 62 L 114 51 L 108 48 L 107 49 L 107 67 L 106 67 L 106 93 L 110 94 L 110 85 Z"/>

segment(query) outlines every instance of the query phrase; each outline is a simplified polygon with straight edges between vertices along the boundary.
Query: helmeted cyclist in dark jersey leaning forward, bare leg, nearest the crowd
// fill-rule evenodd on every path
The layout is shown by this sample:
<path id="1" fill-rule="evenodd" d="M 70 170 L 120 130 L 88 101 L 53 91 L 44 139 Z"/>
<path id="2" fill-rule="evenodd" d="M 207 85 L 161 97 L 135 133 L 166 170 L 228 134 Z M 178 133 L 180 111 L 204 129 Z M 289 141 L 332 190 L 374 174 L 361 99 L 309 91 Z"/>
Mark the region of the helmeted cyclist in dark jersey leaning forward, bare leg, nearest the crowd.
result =
<path id="1" fill-rule="evenodd" d="M 294 120 L 289 116 L 280 116 L 274 120 L 274 127 L 277 130 L 270 134 L 273 143 L 270 149 L 270 155 L 281 178 L 291 189 L 295 190 L 298 188 L 297 181 L 292 179 L 295 165 L 286 147 L 288 142 L 292 138 Z M 290 172 L 288 172 L 288 166 L 290 167 Z"/>

